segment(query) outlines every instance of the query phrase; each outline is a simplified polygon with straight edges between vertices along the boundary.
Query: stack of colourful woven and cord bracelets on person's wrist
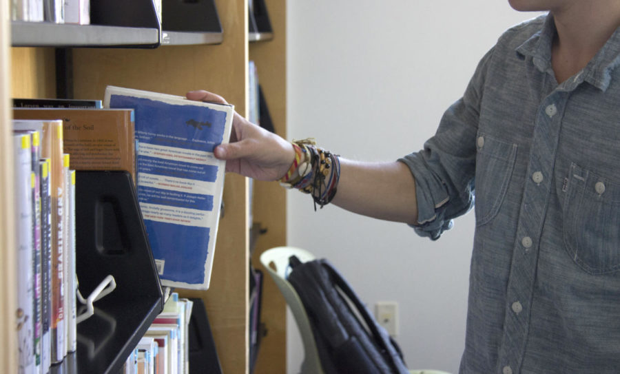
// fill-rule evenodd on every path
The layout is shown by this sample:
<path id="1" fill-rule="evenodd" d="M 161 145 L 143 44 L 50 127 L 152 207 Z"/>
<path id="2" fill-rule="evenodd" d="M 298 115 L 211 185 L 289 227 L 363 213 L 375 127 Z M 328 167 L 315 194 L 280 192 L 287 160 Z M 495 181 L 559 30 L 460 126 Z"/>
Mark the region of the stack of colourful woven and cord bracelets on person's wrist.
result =
<path id="1" fill-rule="evenodd" d="M 280 179 L 280 184 L 311 194 L 314 210 L 317 204 L 322 208 L 331 202 L 338 187 L 340 179 L 338 155 L 316 147 L 316 143 L 311 139 L 292 143 L 295 160 L 287 174 Z M 294 174 L 297 175 L 291 180 Z"/>

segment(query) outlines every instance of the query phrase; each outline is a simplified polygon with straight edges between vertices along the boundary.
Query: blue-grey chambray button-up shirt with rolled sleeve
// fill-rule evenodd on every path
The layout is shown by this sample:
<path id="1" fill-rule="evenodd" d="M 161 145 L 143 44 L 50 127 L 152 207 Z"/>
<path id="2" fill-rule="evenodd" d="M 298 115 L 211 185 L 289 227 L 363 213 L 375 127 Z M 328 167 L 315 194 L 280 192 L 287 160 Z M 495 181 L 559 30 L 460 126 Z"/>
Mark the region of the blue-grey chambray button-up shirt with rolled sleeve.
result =
<path id="1" fill-rule="evenodd" d="M 422 235 L 475 200 L 461 373 L 620 373 L 620 29 L 561 84 L 555 32 L 505 32 L 401 159 Z"/>

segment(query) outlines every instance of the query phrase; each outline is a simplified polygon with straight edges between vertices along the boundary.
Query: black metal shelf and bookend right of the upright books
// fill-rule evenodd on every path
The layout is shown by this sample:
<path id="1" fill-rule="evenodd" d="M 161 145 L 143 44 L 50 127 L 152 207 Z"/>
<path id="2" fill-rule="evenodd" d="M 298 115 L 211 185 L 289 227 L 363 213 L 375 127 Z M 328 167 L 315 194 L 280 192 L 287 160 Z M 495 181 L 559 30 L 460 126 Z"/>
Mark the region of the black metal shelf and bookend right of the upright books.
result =
<path id="1" fill-rule="evenodd" d="M 116 289 L 77 326 L 76 373 L 118 373 L 163 310 L 163 293 L 127 172 L 76 173 L 76 276 L 89 295 L 111 274 Z"/>

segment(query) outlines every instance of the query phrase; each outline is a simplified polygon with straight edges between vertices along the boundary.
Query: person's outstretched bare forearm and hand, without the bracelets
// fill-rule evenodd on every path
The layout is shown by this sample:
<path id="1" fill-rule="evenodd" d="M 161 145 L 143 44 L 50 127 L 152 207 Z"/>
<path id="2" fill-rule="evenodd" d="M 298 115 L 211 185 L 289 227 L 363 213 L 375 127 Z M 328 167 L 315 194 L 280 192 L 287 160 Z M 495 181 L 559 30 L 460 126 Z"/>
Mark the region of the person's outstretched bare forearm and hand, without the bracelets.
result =
<path id="1" fill-rule="evenodd" d="M 206 91 L 188 92 L 197 101 L 225 103 Z M 235 113 L 230 143 L 214 149 L 216 158 L 227 160 L 228 172 L 258 180 L 278 180 L 293 164 L 293 145 L 280 136 L 249 123 Z M 340 181 L 335 205 L 382 220 L 415 223 L 415 182 L 409 167 L 400 162 L 362 163 L 340 158 Z"/>

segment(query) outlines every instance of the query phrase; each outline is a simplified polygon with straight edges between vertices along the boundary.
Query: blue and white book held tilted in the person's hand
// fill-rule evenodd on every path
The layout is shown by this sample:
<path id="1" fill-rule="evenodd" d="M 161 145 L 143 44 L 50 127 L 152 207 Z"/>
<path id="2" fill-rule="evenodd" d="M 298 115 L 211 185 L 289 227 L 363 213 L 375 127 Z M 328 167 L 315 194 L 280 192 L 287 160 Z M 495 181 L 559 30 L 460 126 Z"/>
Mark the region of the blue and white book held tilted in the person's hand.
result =
<path id="1" fill-rule="evenodd" d="M 104 107 L 135 112 L 138 200 L 164 286 L 208 289 L 234 107 L 108 86 Z"/>

